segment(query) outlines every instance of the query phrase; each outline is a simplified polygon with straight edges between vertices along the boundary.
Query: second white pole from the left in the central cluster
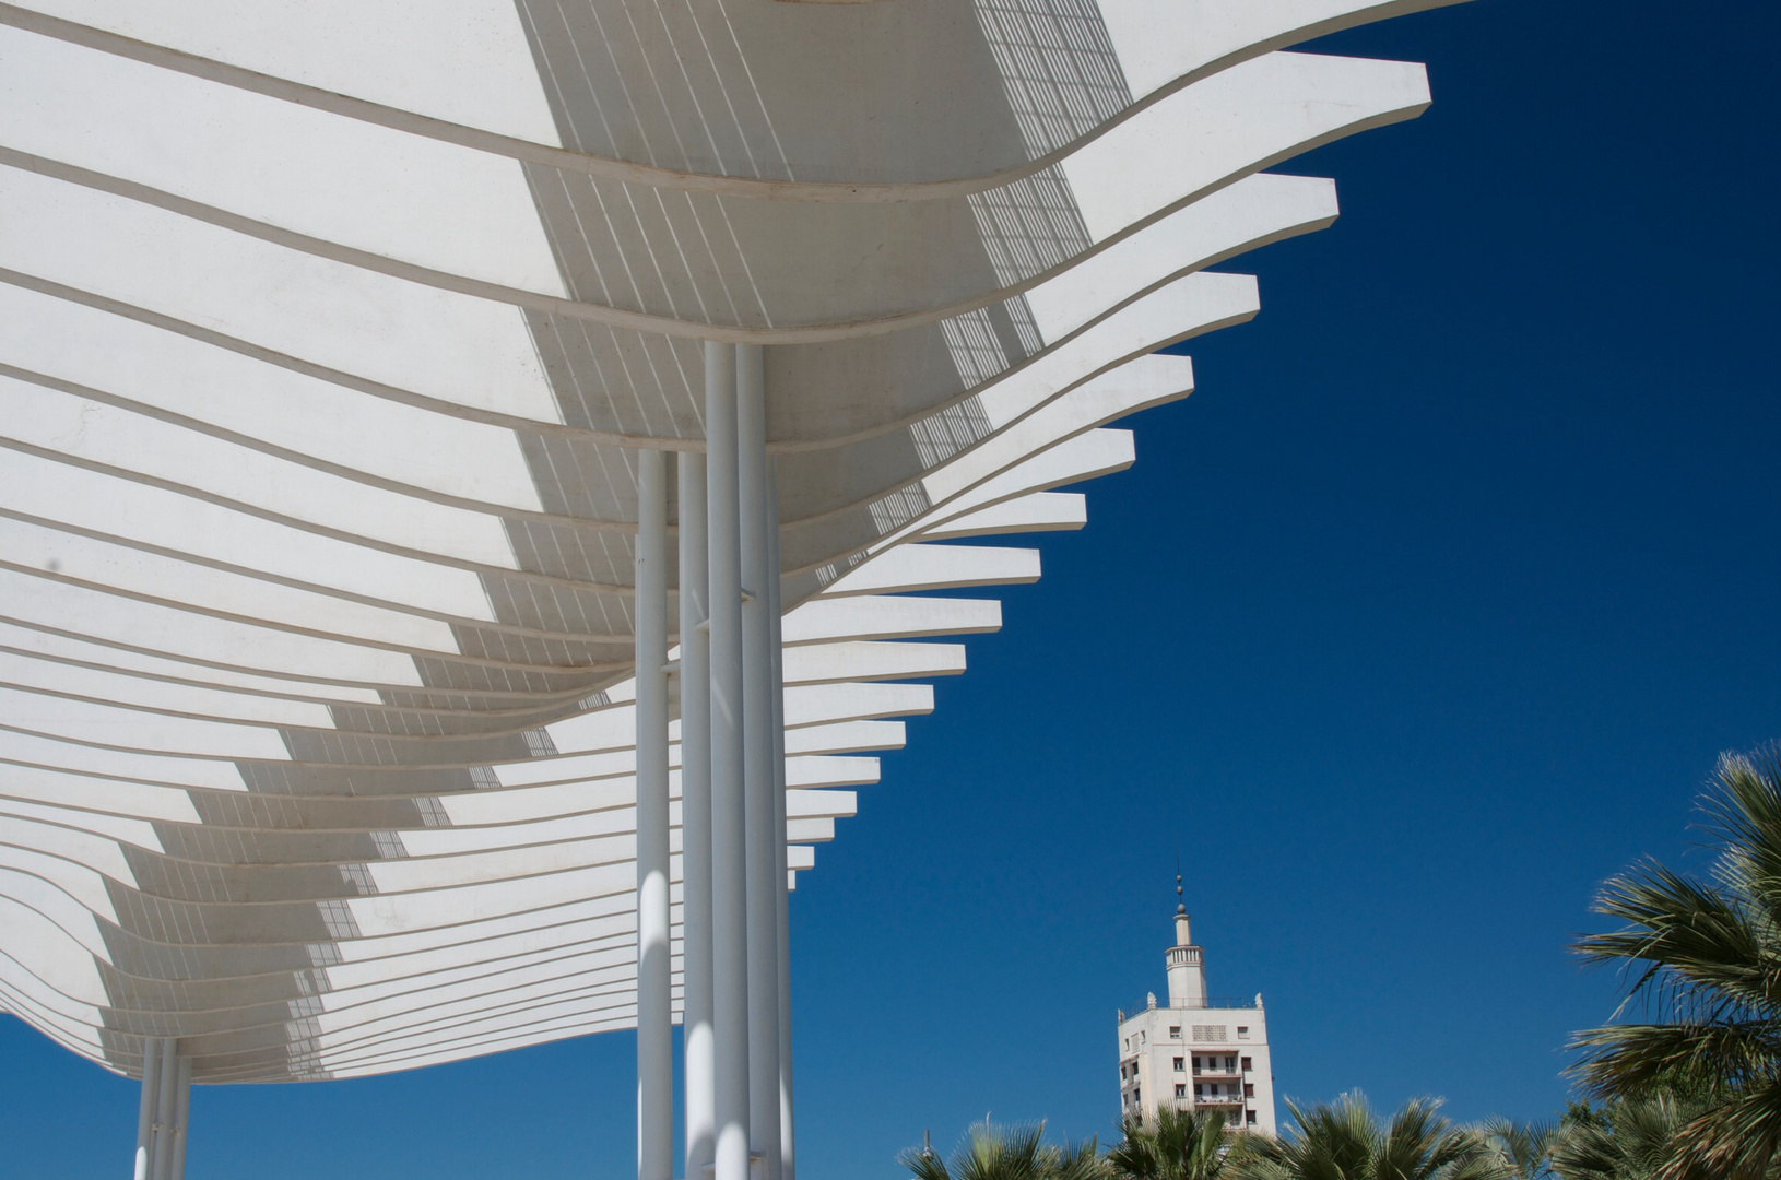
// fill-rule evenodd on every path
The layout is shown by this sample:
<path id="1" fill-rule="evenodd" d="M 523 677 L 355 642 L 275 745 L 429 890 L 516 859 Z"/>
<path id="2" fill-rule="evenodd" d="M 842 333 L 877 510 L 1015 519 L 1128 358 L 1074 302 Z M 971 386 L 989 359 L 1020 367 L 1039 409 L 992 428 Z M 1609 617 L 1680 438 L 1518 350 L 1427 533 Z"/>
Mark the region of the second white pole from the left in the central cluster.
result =
<path id="1" fill-rule="evenodd" d="M 680 479 L 680 1016 L 686 1086 L 686 1178 L 712 1160 L 711 1041 L 711 614 L 705 546 L 705 456 L 682 450 Z"/>

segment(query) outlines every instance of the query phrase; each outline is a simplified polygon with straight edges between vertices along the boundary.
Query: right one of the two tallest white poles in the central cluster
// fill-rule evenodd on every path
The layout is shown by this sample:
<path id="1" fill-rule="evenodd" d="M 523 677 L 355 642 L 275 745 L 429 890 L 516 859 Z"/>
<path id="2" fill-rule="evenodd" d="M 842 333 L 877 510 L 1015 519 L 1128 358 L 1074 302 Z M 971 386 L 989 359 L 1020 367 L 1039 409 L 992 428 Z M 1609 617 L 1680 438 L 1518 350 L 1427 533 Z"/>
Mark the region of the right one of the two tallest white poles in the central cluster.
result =
<path id="1" fill-rule="evenodd" d="M 748 1139 L 762 1180 L 780 1173 L 778 858 L 773 853 L 773 651 L 768 623 L 768 438 L 759 343 L 736 345 L 736 472 L 743 589 L 743 794 L 748 840 Z"/>

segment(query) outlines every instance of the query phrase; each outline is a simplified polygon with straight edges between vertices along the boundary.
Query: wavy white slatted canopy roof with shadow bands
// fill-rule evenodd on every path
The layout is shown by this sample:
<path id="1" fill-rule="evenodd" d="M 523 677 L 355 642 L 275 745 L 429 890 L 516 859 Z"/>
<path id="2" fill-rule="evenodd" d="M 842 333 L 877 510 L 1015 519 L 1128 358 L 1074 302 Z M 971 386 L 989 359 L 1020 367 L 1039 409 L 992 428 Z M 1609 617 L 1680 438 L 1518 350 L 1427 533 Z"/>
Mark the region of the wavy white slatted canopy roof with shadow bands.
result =
<path id="1" fill-rule="evenodd" d="M 1443 2 L 0 4 L 0 1006 L 199 1082 L 632 1027 L 703 342 L 766 345 L 803 872 L 999 625 L 933 591 L 1040 573 L 955 541 L 1081 527 L 1257 310 L 1208 267 L 1336 217 L 1265 169 L 1428 103 L 1286 46 Z"/>

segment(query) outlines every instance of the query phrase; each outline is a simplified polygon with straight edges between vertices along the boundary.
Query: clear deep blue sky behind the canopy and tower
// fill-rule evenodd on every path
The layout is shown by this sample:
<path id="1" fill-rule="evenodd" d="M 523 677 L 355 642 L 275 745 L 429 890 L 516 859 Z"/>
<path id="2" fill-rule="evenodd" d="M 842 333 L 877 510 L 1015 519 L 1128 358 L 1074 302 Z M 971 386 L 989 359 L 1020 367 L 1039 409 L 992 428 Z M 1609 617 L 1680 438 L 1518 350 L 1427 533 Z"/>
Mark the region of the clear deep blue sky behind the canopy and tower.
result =
<path id="1" fill-rule="evenodd" d="M 1179 845 L 1286 1095 L 1562 1107 L 1594 885 L 1699 863 L 1715 755 L 1781 737 L 1770 4 L 1478 0 L 1322 44 L 1435 105 L 1304 157 L 1090 525 L 1040 541 L 793 901 L 801 1175 L 992 1112 L 1106 1139 Z M 618 1176 L 627 1036 L 199 1089 L 191 1175 Z M 0 1018 L 0 1175 L 121 1176 L 135 1087 Z"/>

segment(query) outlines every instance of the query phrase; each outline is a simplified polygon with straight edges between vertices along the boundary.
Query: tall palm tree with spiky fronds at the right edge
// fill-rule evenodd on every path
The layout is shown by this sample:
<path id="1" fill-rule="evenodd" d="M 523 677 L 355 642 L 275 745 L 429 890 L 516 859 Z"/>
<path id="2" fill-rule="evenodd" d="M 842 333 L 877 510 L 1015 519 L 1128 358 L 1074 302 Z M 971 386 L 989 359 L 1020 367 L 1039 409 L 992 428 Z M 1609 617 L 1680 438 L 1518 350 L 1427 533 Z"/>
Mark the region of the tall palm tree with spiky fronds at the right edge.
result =
<path id="1" fill-rule="evenodd" d="M 1656 861 L 1610 877 L 1594 909 L 1626 927 L 1576 943 L 1635 975 L 1621 1011 L 1637 998 L 1660 1020 L 1580 1032 L 1573 1068 L 1599 1098 L 1701 1098 L 1662 1180 L 1758 1180 L 1781 1157 L 1781 751 L 1722 755 L 1701 806 L 1710 879 Z"/>

